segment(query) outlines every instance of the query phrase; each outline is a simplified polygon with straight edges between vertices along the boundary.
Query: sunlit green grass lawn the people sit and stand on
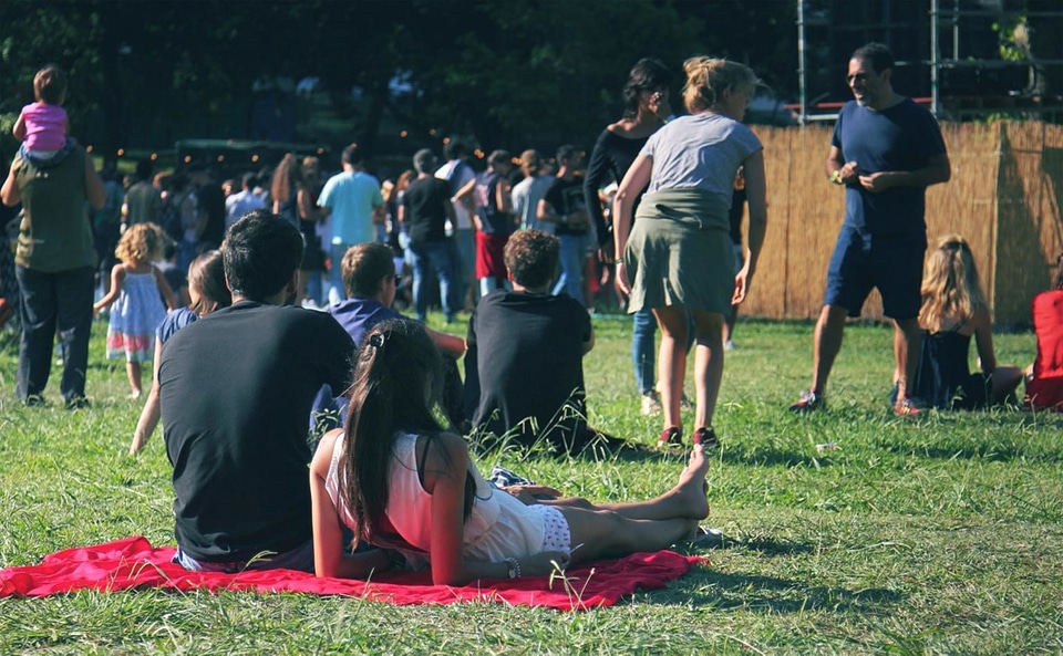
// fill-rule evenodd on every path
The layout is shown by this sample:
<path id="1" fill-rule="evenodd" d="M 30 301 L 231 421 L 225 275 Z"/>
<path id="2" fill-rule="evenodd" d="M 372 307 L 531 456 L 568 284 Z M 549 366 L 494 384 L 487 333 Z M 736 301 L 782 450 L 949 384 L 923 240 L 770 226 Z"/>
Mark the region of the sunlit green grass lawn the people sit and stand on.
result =
<path id="1" fill-rule="evenodd" d="M 434 321 L 441 317 L 433 317 Z M 438 325 L 437 327 L 443 327 Z M 591 423 L 651 444 L 639 415 L 630 321 L 596 320 Z M 75 545 L 173 543 L 159 433 L 125 452 L 140 410 L 96 323 L 89 409 L 14 400 L 0 348 L 0 568 Z M 786 412 L 812 366 L 808 323 L 741 323 L 716 415 L 711 525 L 730 538 L 667 590 L 580 613 L 468 604 L 395 607 L 291 594 L 137 591 L 0 600 L 0 653 L 1033 653 L 1063 650 L 1063 416 L 1018 409 L 895 419 L 891 332 L 853 325 L 829 410 Z M 1032 362 L 1031 334 L 997 337 Z M 692 386 L 688 385 L 688 394 Z M 688 435 L 692 430 L 687 418 Z M 817 454 L 816 444 L 836 442 Z M 605 460 L 484 454 L 591 500 L 670 487 L 680 456 Z M 683 550 L 681 550 L 683 551 Z"/>

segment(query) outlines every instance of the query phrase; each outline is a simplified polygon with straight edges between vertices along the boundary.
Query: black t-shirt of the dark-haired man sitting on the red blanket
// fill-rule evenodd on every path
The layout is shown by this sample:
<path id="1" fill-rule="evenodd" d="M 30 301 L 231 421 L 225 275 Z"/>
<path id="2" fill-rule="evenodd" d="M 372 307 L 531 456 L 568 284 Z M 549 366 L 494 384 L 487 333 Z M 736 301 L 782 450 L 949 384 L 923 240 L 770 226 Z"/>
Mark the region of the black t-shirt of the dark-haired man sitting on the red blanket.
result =
<path id="1" fill-rule="evenodd" d="M 322 385 L 347 388 L 353 352 L 329 314 L 250 301 L 166 342 L 158 382 L 182 550 L 224 562 L 310 540 L 310 406 Z"/>

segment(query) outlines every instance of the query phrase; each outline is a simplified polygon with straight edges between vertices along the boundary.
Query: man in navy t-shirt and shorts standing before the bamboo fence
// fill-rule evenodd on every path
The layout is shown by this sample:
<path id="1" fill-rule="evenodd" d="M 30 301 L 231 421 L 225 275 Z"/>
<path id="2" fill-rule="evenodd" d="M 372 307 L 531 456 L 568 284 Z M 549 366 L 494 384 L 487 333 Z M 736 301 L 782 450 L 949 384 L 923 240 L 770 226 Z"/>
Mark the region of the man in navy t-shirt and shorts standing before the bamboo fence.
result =
<path id="1" fill-rule="evenodd" d="M 951 177 L 949 156 L 933 116 L 894 92 L 894 55 L 881 43 L 858 48 L 846 80 L 856 101 L 838 114 L 827 156 L 828 179 L 845 189 L 845 222 L 830 265 L 823 312 L 816 323 L 812 388 L 789 407 L 825 406 L 827 377 L 842 350 L 846 316 L 878 288 L 894 320 L 894 413 L 918 416 L 907 391 L 919 361 L 919 305 L 926 188 Z"/>

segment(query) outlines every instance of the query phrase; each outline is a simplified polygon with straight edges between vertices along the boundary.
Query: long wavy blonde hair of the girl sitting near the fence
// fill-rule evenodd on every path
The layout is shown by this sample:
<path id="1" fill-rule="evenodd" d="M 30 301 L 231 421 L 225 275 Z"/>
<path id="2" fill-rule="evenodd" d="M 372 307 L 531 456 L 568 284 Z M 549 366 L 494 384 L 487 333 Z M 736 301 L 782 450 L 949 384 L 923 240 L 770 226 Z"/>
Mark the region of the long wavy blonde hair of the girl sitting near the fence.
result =
<path id="1" fill-rule="evenodd" d="M 941 236 L 923 270 L 919 324 L 937 333 L 947 320 L 969 321 L 982 308 L 987 308 L 985 294 L 971 247 L 959 235 Z"/>

